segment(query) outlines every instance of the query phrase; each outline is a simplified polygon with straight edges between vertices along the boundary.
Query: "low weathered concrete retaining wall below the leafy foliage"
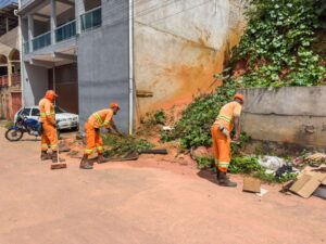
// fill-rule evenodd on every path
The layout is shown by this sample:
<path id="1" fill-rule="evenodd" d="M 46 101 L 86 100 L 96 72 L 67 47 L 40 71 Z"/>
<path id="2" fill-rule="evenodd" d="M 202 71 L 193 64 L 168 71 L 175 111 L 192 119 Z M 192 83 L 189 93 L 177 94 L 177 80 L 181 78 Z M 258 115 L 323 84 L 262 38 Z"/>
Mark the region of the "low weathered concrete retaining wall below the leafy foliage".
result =
<path id="1" fill-rule="evenodd" d="M 242 129 L 253 139 L 326 149 L 326 87 L 242 92 Z"/>

